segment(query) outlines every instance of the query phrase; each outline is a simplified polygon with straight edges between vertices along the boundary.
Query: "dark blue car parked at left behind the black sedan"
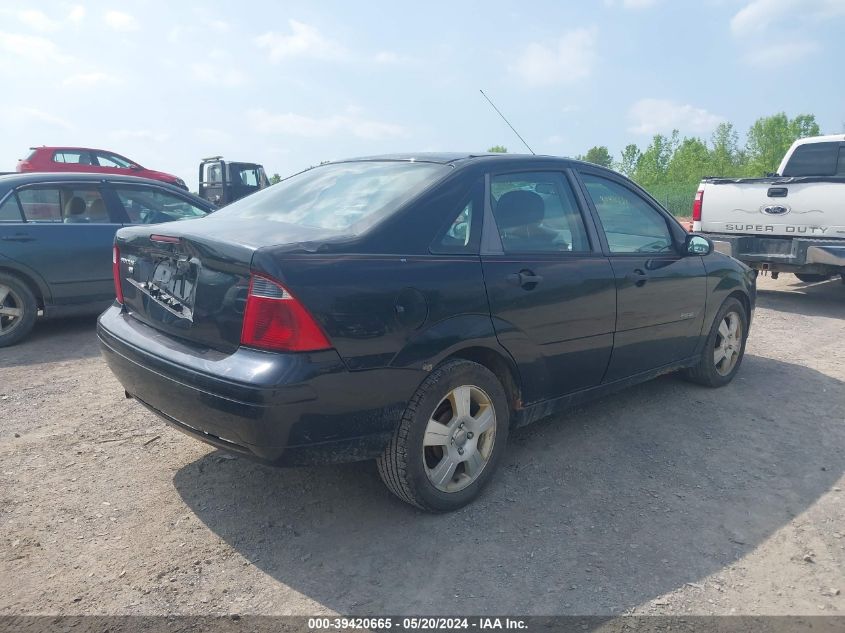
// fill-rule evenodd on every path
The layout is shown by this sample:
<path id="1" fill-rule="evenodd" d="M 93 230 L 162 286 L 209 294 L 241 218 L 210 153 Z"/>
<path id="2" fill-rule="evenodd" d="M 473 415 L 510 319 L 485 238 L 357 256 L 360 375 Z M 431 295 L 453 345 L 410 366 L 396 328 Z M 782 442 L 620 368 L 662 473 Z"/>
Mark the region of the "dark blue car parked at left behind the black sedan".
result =
<path id="1" fill-rule="evenodd" d="M 0 347 L 38 316 L 96 314 L 114 300 L 123 226 L 199 218 L 209 202 L 155 180 L 103 174 L 0 176 Z"/>

